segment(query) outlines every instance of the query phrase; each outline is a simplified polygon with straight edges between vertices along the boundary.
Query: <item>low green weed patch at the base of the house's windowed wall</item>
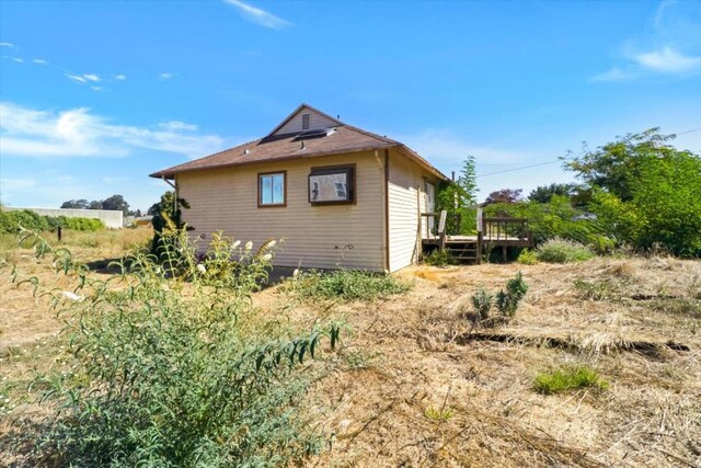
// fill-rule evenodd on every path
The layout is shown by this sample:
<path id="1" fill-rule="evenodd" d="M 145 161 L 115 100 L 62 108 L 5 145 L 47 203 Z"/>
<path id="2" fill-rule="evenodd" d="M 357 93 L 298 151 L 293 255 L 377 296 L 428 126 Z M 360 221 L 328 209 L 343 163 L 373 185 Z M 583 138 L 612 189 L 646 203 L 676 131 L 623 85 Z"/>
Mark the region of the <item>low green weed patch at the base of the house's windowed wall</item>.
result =
<path id="1" fill-rule="evenodd" d="M 299 272 L 283 287 L 307 299 L 341 300 L 374 300 L 411 289 L 411 285 L 390 275 L 354 270 Z"/>

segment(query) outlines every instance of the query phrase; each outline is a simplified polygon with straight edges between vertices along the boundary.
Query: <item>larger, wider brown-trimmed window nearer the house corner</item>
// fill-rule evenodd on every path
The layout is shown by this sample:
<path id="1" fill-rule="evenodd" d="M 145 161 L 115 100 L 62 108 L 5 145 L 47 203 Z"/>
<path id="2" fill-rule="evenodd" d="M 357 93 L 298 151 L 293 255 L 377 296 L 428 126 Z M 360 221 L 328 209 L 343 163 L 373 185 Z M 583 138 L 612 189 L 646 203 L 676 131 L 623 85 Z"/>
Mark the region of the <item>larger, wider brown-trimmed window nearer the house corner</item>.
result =
<path id="1" fill-rule="evenodd" d="M 355 203 L 355 165 L 312 168 L 309 173 L 309 203 Z"/>

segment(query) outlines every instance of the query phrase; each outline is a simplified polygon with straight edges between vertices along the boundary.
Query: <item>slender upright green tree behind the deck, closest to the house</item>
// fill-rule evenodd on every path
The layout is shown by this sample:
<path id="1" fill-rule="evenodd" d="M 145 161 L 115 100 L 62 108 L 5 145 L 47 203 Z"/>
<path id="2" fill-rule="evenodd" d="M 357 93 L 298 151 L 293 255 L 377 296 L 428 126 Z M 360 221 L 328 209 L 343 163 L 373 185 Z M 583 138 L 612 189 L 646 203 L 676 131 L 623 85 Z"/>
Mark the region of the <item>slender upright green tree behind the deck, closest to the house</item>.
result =
<path id="1" fill-rule="evenodd" d="M 467 232 L 474 229 L 474 208 L 476 204 L 476 170 L 474 157 L 468 156 L 456 182 L 439 187 L 436 209 L 460 215 L 460 226 L 448 220 L 449 232 Z"/>

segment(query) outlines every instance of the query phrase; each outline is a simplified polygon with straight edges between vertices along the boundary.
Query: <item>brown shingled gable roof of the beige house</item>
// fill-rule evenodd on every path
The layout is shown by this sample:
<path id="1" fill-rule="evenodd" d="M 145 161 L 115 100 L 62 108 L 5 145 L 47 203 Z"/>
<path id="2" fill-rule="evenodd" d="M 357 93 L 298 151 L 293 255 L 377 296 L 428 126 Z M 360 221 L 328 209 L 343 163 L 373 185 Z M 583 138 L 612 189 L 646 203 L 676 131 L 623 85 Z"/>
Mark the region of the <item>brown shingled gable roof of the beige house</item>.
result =
<path id="1" fill-rule="evenodd" d="M 300 139 L 301 115 L 309 113 L 311 121 L 323 124 L 327 136 L 322 138 Z M 295 119 L 299 119 L 295 124 Z M 292 132 L 288 132 L 288 129 Z M 300 104 L 295 112 L 280 122 L 265 137 L 239 145 L 205 158 L 174 165 L 150 174 L 157 179 L 173 179 L 181 172 L 209 169 L 231 168 L 238 165 L 260 164 L 289 159 L 314 158 L 332 155 L 343 155 L 368 150 L 397 148 L 410 159 L 415 160 L 439 179 L 448 178 L 430 165 L 428 161 L 411 150 L 405 145 L 391 138 L 382 137 L 370 132 L 344 124 L 337 118 L 308 105 Z"/>

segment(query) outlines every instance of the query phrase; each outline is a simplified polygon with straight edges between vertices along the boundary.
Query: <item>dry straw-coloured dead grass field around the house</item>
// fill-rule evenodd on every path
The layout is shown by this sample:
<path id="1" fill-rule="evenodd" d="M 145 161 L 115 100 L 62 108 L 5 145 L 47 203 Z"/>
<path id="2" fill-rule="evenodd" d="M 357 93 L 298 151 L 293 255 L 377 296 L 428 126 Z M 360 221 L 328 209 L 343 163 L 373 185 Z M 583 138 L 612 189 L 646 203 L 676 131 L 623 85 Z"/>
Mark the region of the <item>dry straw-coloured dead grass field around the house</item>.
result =
<path id="1" fill-rule="evenodd" d="M 102 260 L 143 240 L 71 249 Z M 54 278 L 30 252 L 11 255 Z M 471 295 L 519 270 L 530 289 L 516 319 L 474 340 Z M 255 297 L 269 313 L 300 323 L 345 317 L 353 330 L 308 398 L 333 434 L 309 466 L 701 467 L 701 261 L 418 266 L 398 276 L 413 290 L 375 303 L 307 304 L 278 287 Z M 23 385 L 61 350 L 53 339 L 60 322 L 28 288 L 2 275 L 0 295 L 0 393 L 19 404 L 0 413 L 1 435 L 14 418 L 42 411 Z M 596 369 L 609 388 L 533 390 L 538 373 L 564 364 Z"/>

